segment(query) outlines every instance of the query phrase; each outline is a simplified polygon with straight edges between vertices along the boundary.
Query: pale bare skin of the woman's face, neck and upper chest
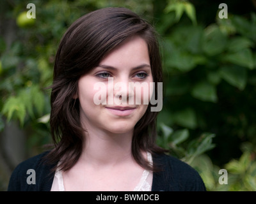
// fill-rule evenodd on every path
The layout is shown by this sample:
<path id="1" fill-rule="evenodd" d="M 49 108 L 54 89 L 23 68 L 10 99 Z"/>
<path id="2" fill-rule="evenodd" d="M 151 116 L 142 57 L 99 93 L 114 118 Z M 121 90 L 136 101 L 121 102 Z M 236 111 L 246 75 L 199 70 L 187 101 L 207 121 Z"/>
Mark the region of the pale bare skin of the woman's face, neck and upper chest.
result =
<path id="1" fill-rule="evenodd" d="M 93 84 L 107 84 L 108 77 L 113 77 L 114 83 L 153 82 L 145 40 L 132 36 L 79 79 L 78 94 L 74 98 L 80 101 L 86 140 L 77 163 L 63 172 L 66 191 L 133 191 L 140 182 L 144 169 L 134 161 L 131 143 L 134 126 L 148 105 L 120 105 L 130 109 L 127 111 L 116 110 L 115 105 L 95 105 Z M 128 100 L 131 93 L 125 94 Z M 146 152 L 142 153 L 147 158 Z M 150 180 L 152 182 L 152 178 Z"/>

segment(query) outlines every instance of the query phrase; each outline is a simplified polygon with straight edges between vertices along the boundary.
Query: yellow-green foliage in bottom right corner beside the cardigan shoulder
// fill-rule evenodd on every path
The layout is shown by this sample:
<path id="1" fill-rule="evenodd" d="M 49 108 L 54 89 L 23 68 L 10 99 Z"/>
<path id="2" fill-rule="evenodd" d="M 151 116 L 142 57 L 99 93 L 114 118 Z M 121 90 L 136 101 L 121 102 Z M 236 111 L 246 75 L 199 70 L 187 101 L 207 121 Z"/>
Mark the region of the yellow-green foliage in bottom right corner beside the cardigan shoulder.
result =
<path id="1" fill-rule="evenodd" d="M 191 166 L 200 172 L 208 191 L 256 191 L 255 152 L 245 151 L 239 159 L 225 164 L 228 184 L 220 184 L 220 167 L 205 154 L 196 157 Z"/>

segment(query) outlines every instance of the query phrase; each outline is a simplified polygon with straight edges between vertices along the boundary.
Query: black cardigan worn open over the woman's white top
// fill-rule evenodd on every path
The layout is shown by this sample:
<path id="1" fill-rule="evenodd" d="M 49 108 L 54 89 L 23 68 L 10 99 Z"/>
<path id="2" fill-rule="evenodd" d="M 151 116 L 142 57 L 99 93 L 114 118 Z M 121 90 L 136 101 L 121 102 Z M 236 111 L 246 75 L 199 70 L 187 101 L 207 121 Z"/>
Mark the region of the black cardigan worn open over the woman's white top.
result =
<path id="1" fill-rule="evenodd" d="M 53 165 L 42 163 L 47 152 L 20 163 L 12 173 L 8 191 L 51 191 Z M 153 163 L 160 164 L 162 171 L 153 173 L 152 191 L 206 191 L 203 180 L 188 164 L 165 154 L 153 154 Z M 29 169 L 35 170 L 36 184 L 28 184 Z"/>

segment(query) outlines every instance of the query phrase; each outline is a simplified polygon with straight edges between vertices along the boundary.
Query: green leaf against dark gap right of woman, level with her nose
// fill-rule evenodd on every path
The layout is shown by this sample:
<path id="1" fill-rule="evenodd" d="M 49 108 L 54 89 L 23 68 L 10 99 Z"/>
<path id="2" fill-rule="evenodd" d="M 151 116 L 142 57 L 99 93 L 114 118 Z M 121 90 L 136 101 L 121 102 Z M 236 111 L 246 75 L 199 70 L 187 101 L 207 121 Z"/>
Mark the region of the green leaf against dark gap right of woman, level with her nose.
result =
<path id="1" fill-rule="evenodd" d="M 191 94 L 194 98 L 201 101 L 210 101 L 216 103 L 218 100 L 216 87 L 207 81 L 198 82 L 192 89 Z"/>

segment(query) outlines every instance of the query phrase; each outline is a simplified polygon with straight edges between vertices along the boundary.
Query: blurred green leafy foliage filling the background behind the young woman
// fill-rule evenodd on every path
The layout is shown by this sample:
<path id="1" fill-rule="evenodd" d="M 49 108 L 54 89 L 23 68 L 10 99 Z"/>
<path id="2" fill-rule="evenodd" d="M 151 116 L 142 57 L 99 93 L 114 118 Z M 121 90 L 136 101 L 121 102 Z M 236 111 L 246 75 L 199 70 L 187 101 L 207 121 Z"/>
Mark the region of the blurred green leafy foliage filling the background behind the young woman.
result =
<path id="1" fill-rule="evenodd" d="M 50 90 L 45 88 L 52 82 L 61 36 L 89 11 L 124 6 L 152 22 L 161 36 L 165 90 L 157 143 L 196 168 L 209 191 L 255 191 L 253 4 L 244 15 L 228 10 L 228 18 L 220 19 L 214 1 L 207 1 L 209 10 L 198 9 L 204 3 L 182 0 L 30 3 L 36 5 L 36 19 L 28 27 L 16 24 L 28 11 L 26 2 L 4 1 L 0 10 L 0 133 L 8 122 L 19 121 L 27 157 L 51 142 Z M 228 1 L 228 8 L 238 3 Z M 227 185 L 218 182 L 221 168 L 228 171 Z"/>

